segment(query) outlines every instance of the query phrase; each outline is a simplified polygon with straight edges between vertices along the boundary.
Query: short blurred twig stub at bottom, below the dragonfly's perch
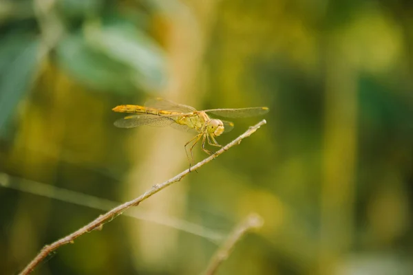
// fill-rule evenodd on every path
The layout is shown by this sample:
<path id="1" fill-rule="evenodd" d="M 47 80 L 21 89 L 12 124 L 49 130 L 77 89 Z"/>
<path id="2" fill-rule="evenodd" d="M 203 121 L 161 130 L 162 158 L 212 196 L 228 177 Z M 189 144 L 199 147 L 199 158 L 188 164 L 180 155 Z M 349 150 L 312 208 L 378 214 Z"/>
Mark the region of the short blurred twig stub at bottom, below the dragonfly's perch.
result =
<path id="1" fill-rule="evenodd" d="M 228 239 L 222 244 L 217 252 L 213 255 L 207 270 L 204 272 L 204 275 L 213 275 L 218 270 L 218 267 L 222 262 L 228 259 L 229 254 L 231 254 L 235 244 L 240 241 L 242 236 L 246 234 L 249 230 L 253 228 L 260 228 L 264 221 L 262 217 L 258 214 L 249 214 L 244 221 L 235 227 L 233 232 L 229 234 Z"/>

